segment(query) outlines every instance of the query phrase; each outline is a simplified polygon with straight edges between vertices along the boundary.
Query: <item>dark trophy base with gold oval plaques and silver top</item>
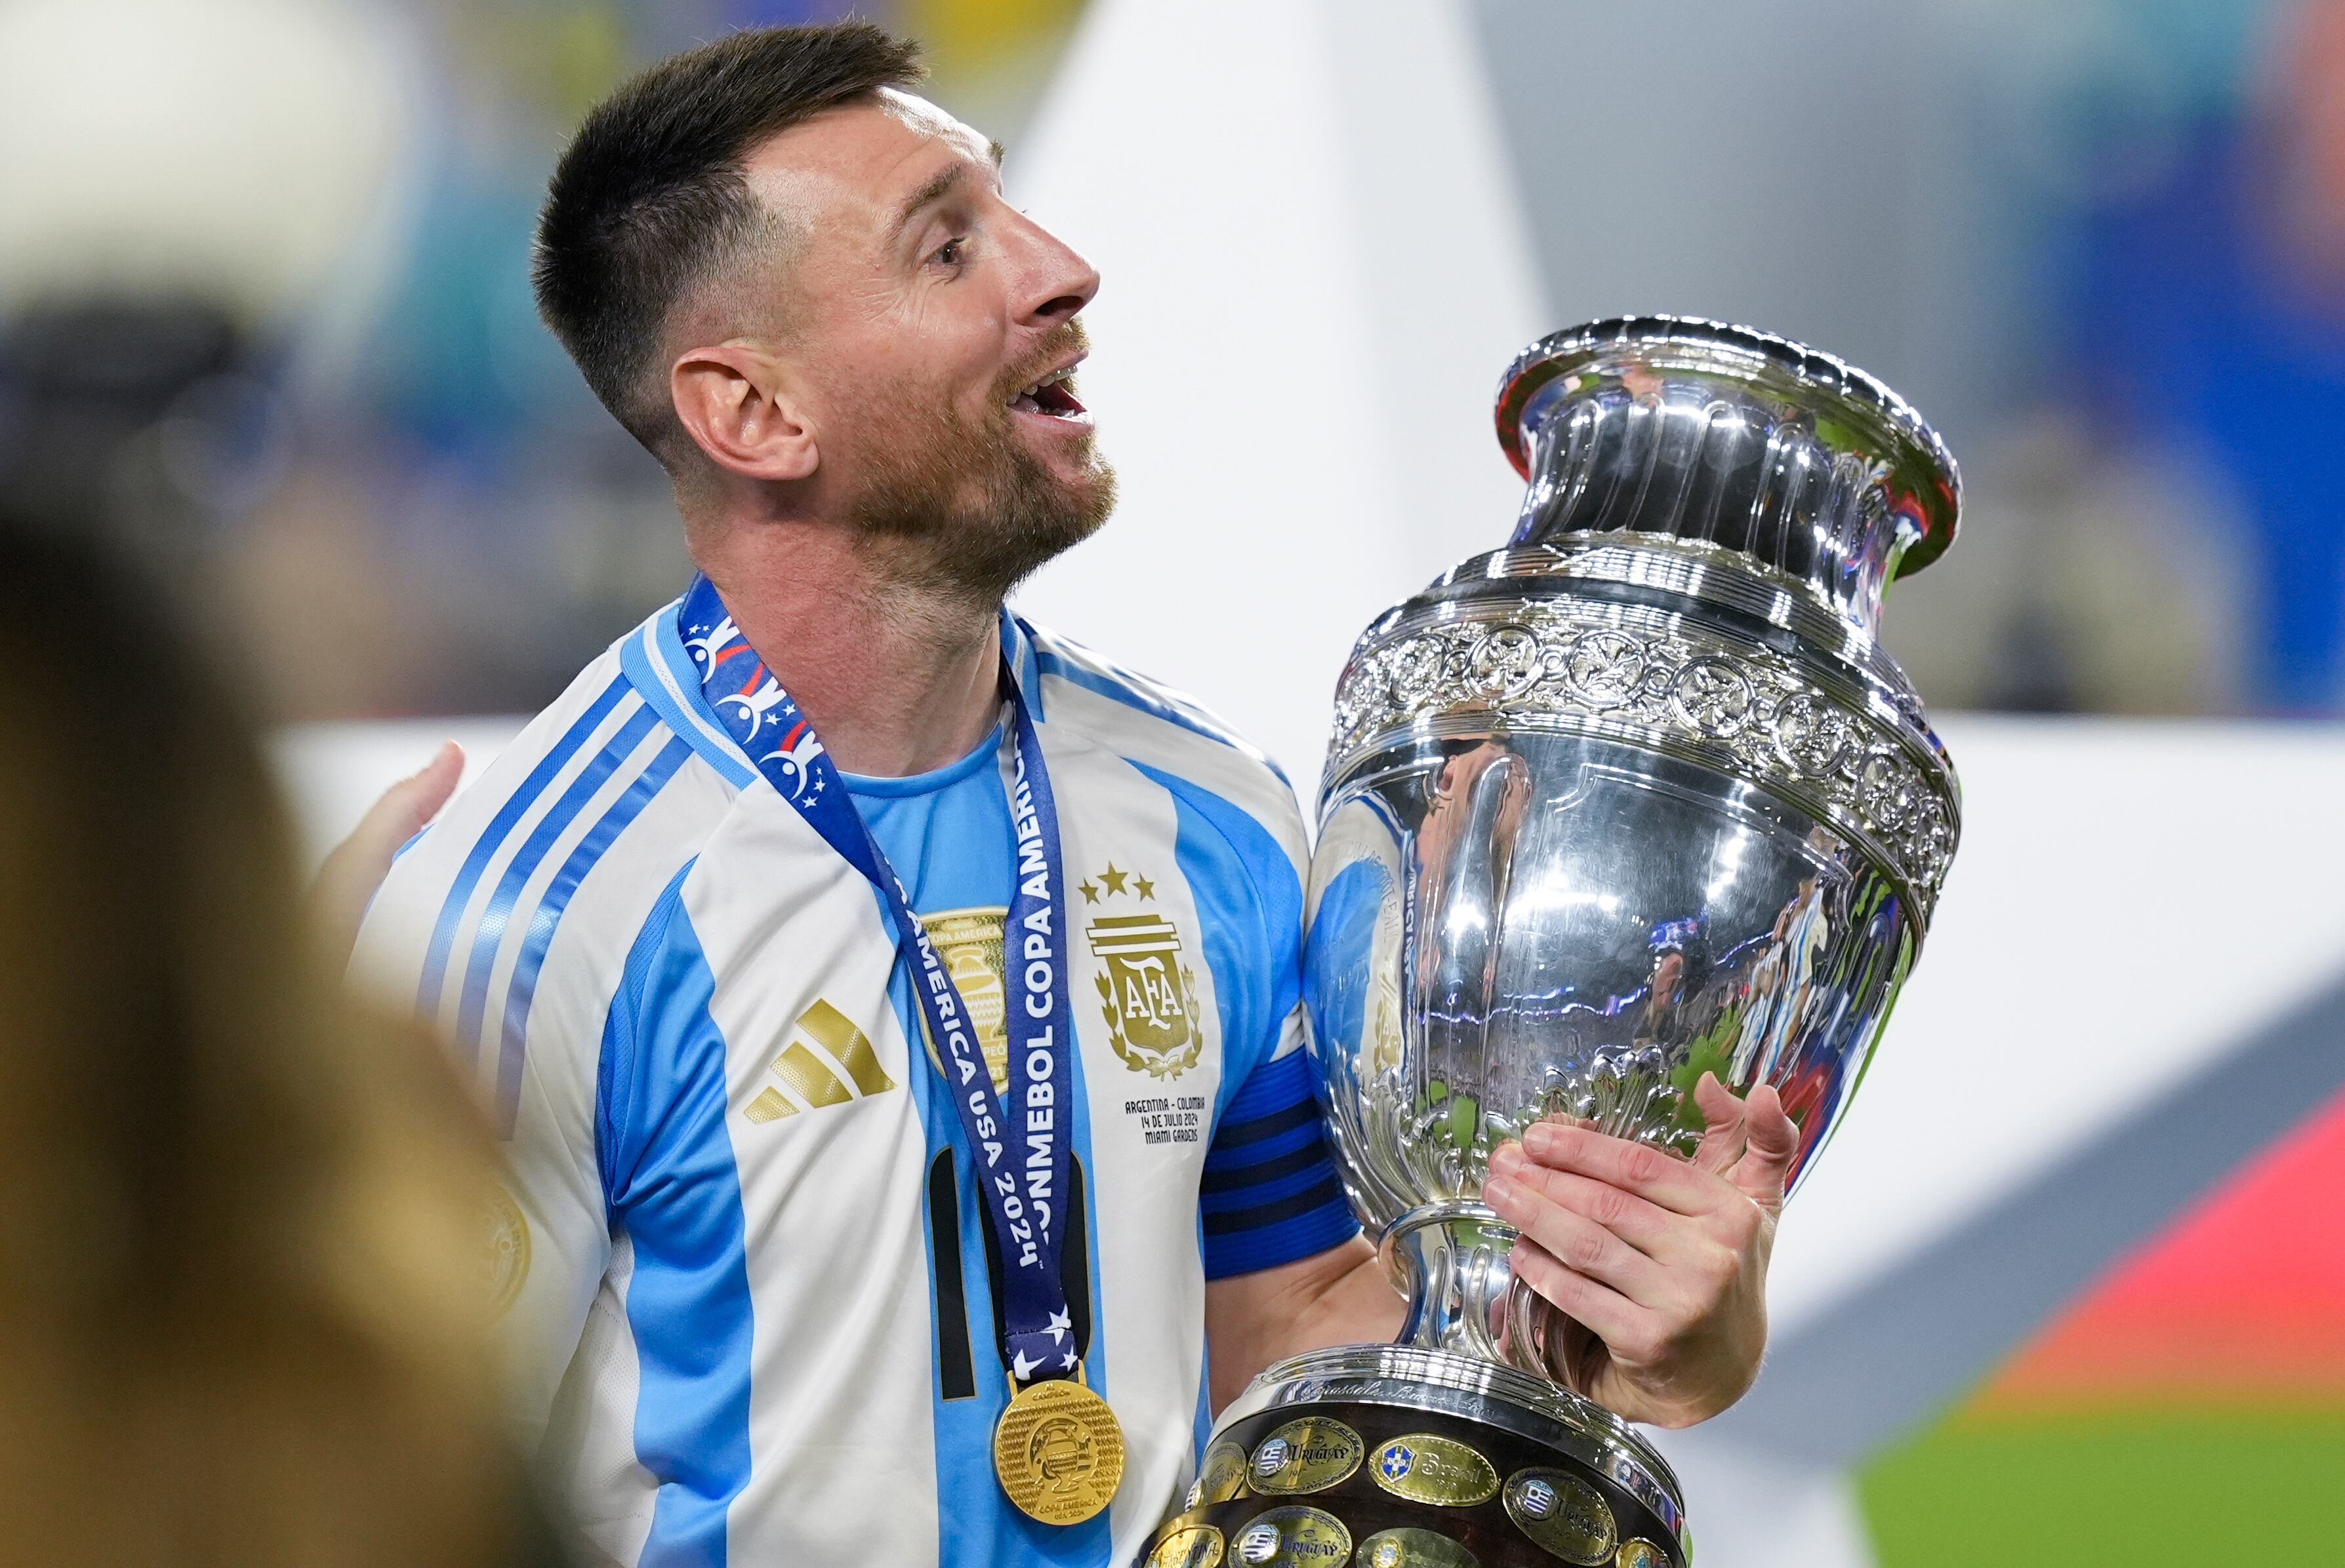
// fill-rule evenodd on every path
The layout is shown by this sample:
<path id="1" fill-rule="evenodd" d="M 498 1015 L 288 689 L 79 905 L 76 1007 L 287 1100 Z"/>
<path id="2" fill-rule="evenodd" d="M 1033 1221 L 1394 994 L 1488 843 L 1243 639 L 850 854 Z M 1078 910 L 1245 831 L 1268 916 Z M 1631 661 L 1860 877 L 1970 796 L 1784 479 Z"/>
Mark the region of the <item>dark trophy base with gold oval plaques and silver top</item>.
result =
<path id="1" fill-rule="evenodd" d="M 1215 1423 L 1140 1568 L 1688 1568 L 1670 1465 L 1578 1395 L 1477 1357 L 1337 1345 Z"/>

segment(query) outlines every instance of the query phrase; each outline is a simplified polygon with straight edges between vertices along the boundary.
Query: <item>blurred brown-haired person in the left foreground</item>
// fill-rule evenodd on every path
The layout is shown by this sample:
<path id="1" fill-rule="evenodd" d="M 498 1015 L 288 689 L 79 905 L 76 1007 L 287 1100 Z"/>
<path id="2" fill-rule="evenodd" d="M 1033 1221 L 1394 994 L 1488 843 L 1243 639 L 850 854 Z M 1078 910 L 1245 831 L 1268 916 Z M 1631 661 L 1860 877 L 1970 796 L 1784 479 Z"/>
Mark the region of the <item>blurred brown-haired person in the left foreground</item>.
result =
<path id="1" fill-rule="evenodd" d="M 495 1202 L 443 1062 L 312 963 L 225 687 L 131 577 L 0 523 L 9 1561 L 546 1561 L 495 1409 Z"/>

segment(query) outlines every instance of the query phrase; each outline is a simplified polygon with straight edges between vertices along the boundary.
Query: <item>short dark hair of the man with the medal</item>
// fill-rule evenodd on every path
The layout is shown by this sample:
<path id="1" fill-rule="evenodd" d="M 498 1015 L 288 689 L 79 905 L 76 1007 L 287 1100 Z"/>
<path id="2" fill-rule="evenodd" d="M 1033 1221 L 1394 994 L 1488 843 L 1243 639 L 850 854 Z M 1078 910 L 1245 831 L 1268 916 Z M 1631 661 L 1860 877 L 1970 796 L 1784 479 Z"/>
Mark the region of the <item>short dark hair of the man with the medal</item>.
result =
<path id="1" fill-rule="evenodd" d="M 666 59 L 589 110 L 537 220 L 537 314 L 654 457 L 675 429 L 643 384 L 668 312 L 764 232 L 741 164 L 793 124 L 924 75 L 868 21 L 753 28 Z"/>

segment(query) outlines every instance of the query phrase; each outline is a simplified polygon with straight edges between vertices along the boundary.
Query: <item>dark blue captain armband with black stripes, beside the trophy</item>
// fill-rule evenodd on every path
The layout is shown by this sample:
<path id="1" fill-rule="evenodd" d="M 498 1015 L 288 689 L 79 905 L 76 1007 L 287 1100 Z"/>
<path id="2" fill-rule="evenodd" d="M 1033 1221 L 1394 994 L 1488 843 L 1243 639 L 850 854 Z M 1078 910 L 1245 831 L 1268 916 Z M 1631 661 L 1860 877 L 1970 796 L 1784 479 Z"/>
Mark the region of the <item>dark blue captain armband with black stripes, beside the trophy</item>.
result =
<path id="1" fill-rule="evenodd" d="M 1309 1052 L 1290 1050 L 1245 1078 L 1205 1151 L 1198 1207 L 1208 1280 L 1313 1259 L 1360 1233 L 1311 1097 Z"/>

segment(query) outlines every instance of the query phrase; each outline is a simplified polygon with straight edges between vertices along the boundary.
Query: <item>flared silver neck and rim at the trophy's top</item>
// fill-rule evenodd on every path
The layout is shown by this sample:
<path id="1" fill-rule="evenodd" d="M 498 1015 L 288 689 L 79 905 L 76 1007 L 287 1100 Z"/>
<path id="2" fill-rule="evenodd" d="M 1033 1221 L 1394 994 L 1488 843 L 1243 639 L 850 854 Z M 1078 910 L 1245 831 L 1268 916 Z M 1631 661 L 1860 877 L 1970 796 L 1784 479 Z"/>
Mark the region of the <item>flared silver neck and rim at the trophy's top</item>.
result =
<path id="1" fill-rule="evenodd" d="M 1513 544 L 1649 532 L 1789 574 L 1878 630 L 1881 593 L 1953 541 L 1946 443 L 1885 384 L 1724 321 L 1613 316 L 1524 349 L 1498 445 L 1529 480 Z"/>

